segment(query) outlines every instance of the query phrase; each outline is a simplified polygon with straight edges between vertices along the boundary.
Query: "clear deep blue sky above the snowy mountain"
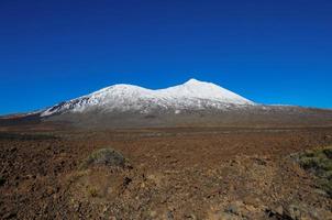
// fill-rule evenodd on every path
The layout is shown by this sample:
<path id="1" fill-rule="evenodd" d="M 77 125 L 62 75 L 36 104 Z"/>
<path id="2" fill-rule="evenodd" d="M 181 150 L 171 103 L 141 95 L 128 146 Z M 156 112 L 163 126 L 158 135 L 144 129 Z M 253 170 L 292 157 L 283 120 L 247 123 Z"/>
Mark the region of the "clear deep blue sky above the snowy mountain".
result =
<path id="1" fill-rule="evenodd" d="M 332 108 L 332 1 L 1 0 L 0 114 L 102 87 L 213 81 Z"/>

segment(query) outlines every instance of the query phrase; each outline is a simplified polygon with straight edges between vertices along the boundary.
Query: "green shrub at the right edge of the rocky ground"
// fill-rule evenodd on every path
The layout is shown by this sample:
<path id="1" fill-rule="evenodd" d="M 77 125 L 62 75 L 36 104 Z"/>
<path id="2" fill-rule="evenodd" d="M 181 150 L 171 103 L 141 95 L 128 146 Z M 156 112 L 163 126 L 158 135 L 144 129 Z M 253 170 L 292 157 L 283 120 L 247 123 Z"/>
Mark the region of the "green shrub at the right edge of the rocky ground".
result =
<path id="1" fill-rule="evenodd" d="M 332 146 L 307 151 L 297 156 L 302 168 L 319 178 L 321 188 L 332 197 Z"/>

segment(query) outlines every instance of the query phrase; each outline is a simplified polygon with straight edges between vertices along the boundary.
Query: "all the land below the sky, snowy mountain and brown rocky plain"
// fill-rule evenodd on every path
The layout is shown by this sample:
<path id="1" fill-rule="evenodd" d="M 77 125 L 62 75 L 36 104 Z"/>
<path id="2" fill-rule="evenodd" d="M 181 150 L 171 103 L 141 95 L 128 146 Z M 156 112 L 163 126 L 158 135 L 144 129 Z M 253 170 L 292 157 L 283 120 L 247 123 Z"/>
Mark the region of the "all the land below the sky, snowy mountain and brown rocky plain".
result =
<path id="1" fill-rule="evenodd" d="M 0 219 L 332 219 L 332 111 L 114 85 L 0 118 Z"/>

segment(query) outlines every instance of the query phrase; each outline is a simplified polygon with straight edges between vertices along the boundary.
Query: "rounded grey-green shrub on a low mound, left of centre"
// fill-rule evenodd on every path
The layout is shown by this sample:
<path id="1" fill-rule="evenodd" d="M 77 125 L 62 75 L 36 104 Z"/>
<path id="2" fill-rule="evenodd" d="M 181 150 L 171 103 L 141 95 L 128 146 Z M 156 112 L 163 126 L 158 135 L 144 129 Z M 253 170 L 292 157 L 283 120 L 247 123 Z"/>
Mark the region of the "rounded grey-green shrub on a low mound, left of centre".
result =
<path id="1" fill-rule="evenodd" d="M 113 148 L 100 148 L 92 152 L 81 164 L 81 168 L 87 168 L 91 165 L 106 165 L 106 166 L 119 166 L 124 167 L 126 160 L 121 153 Z"/>

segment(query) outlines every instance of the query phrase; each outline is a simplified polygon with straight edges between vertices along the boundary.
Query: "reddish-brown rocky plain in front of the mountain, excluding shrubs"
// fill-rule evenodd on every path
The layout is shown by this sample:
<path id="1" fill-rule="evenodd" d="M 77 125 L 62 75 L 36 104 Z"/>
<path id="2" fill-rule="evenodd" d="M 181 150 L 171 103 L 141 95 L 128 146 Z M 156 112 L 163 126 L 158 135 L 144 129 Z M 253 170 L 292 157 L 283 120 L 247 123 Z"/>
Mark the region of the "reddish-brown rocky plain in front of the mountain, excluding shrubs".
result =
<path id="1" fill-rule="evenodd" d="M 289 157 L 331 145 L 332 128 L 41 132 L 0 138 L 0 219 L 332 217 L 332 199 Z M 79 168 L 108 146 L 132 168 Z"/>

